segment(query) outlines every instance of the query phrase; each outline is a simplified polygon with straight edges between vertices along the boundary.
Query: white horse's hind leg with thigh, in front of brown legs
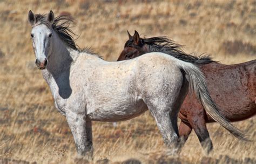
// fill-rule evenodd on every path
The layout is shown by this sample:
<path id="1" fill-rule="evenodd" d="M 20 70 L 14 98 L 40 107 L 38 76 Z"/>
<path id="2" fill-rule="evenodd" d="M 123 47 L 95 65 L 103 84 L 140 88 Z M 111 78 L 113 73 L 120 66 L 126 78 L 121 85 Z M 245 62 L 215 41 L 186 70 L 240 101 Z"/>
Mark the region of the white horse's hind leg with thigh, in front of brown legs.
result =
<path id="1" fill-rule="evenodd" d="M 177 118 L 180 105 L 186 96 L 186 90 L 183 88 L 187 89 L 187 86 L 184 86 L 186 81 L 182 73 L 168 73 L 173 75 L 172 78 L 166 76 L 165 80 L 158 81 L 158 87 L 147 87 L 144 102 L 157 122 L 165 145 L 169 148 L 168 153 L 174 154 L 179 148 Z M 167 82 L 167 79 L 170 80 Z"/>

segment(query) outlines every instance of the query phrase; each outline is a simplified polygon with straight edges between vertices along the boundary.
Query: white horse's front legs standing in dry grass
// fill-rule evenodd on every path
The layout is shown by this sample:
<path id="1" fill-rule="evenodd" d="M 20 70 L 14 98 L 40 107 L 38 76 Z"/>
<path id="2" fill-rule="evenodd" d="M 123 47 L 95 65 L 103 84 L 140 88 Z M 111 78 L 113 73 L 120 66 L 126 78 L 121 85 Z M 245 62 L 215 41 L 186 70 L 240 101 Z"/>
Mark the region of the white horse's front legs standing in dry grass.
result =
<path id="1" fill-rule="evenodd" d="M 85 114 L 67 113 L 66 120 L 75 140 L 77 153 L 92 158 L 91 120 L 86 121 Z"/>

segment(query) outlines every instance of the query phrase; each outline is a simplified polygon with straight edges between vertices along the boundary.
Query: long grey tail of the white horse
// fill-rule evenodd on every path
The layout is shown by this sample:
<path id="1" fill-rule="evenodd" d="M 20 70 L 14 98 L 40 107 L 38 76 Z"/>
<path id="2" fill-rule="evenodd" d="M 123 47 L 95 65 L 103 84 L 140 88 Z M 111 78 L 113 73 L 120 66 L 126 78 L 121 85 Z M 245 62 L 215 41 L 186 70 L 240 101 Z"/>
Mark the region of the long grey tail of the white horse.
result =
<path id="1" fill-rule="evenodd" d="M 221 126 L 226 128 L 231 134 L 233 134 L 236 138 L 240 140 L 250 141 L 248 136 L 241 132 L 237 127 L 233 126 L 219 111 L 217 104 L 212 100 L 206 80 L 203 72 L 201 72 L 197 66 L 186 63 L 186 62 L 178 62 L 181 66 L 181 70 L 185 72 L 185 77 L 190 84 L 190 91 L 197 96 L 199 102 L 204 106 L 206 112 Z"/>

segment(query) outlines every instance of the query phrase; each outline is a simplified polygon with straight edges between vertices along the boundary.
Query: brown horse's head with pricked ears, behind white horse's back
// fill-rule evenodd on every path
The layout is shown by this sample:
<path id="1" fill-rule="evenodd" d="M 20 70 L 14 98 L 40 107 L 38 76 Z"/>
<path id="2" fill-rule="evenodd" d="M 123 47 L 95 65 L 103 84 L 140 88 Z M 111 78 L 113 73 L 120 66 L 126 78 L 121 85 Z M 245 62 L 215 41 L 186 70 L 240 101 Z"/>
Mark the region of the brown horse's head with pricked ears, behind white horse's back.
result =
<path id="1" fill-rule="evenodd" d="M 129 40 L 124 45 L 124 50 L 121 52 L 117 61 L 128 60 L 141 56 L 144 53 L 149 52 L 143 38 L 139 37 L 137 31 L 131 36 L 129 31 L 127 31 Z"/>

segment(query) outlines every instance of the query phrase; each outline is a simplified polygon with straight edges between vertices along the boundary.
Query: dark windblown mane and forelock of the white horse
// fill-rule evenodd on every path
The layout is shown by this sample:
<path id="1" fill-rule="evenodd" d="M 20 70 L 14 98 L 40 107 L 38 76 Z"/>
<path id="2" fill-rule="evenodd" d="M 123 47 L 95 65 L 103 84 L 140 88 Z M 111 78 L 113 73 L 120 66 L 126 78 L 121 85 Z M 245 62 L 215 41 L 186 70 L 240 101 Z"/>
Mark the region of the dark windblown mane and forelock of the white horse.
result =
<path id="1" fill-rule="evenodd" d="M 76 44 L 75 38 L 73 38 L 72 35 L 77 35 L 70 29 L 70 24 L 73 23 L 73 20 L 70 19 L 68 15 L 60 15 L 56 17 L 51 25 L 48 22 L 45 14 L 36 14 L 35 17 L 36 25 L 42 23 L 47 25 L 48 27 L 51 26 L 51 28 L 57 32 L 58 36 L 60 37 L 60 39 L 62 39 L 66 46 L 70 47 L 73 50 L 90 53 L 92 55 L 98 56 L 99 58 L 102 58 L 97 53 L 93 52 L 90 47 L 80 49 L 80 47 Z"/>

